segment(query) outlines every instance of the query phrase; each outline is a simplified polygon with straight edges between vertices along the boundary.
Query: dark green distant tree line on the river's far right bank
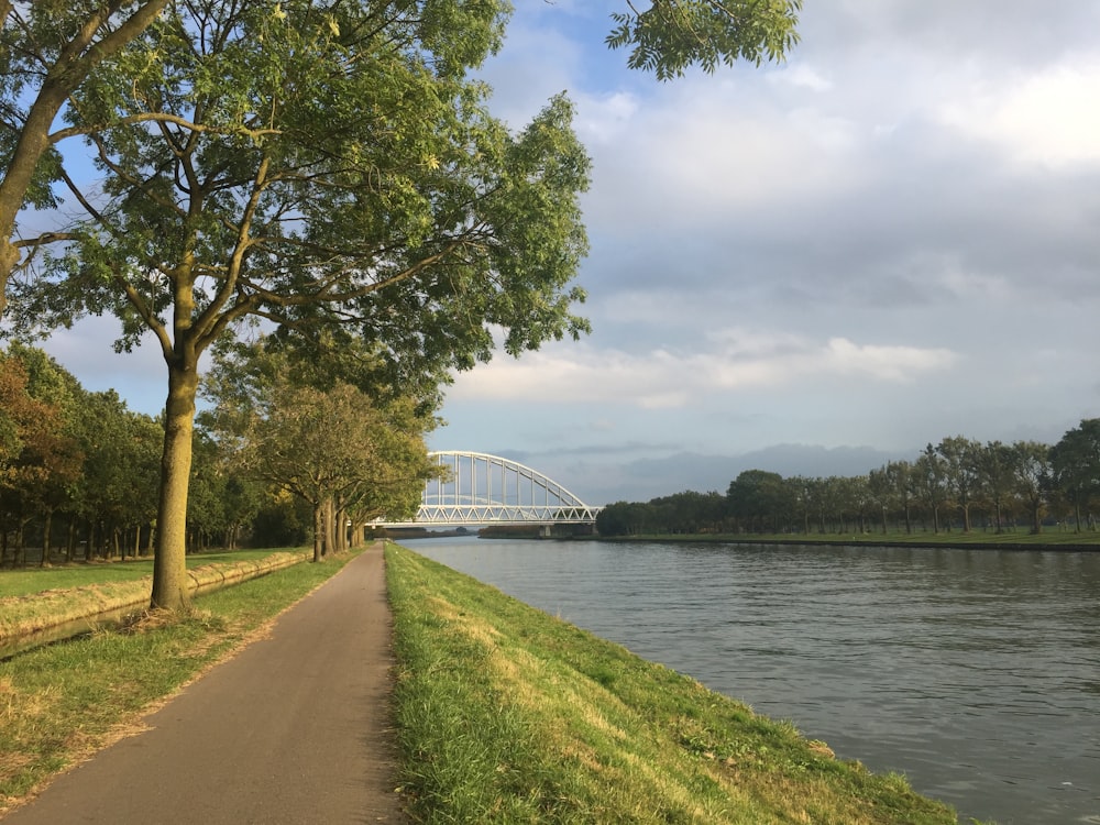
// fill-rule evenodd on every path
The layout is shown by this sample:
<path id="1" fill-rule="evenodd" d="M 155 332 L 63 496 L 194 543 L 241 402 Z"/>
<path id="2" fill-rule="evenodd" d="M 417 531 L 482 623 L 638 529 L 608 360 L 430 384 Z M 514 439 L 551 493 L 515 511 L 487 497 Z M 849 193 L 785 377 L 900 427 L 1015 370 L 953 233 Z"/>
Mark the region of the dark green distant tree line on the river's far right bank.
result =
<path id="1" fill-rule="evenodd" d="M 866 475 L 783 477 L 747 470 L 718 492 L 686 491 L 647 503 L 617 502 L 596 519 L 602 536 L 641 534 L 855 535 L 917 530 L 1096 529 L 1100 419 L 1054 446 L 981 443 L 963 436 L 928 443 L 913 461 Z"/>

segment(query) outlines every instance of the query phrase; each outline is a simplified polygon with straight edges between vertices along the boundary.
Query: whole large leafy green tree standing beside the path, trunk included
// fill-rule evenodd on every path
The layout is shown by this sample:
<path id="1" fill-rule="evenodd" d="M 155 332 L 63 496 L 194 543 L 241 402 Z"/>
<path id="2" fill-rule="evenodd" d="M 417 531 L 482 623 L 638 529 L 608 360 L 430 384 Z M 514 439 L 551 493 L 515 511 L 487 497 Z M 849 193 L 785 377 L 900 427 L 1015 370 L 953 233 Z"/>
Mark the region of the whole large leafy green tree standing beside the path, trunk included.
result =
<path id="1" fill-rule="evenodd" d="M 79 196 L 78 240 L 19 306 L 53 322 L 106 309 L 121 346 L 160 341 L 154 606 L 187 602 L 199 359 L 234 324 L 355 324 L 431 374 L 487 359 L 491 327 L 510 354 L 586 330 L 568 286 L 588 168 L 570 106 L 514 135 L 465 78 L 502 23 L 496 3 L 180 4 L 74 95 L 110 199 Z"/>

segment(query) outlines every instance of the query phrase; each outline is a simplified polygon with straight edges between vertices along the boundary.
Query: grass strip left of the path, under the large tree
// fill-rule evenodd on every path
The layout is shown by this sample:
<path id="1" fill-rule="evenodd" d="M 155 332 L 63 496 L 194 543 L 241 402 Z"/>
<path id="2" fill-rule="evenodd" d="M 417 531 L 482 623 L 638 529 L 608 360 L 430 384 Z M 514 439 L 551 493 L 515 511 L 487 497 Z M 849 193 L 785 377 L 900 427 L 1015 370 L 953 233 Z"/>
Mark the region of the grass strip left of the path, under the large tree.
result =
<path id="1" fill-rule="evenodd" d="M 0 813 L 140 726 L 161 700 L 352 558 L 295 564 L 201 596 L 191 615 L 177 622 L 146 620 L 0 661 Z"/>

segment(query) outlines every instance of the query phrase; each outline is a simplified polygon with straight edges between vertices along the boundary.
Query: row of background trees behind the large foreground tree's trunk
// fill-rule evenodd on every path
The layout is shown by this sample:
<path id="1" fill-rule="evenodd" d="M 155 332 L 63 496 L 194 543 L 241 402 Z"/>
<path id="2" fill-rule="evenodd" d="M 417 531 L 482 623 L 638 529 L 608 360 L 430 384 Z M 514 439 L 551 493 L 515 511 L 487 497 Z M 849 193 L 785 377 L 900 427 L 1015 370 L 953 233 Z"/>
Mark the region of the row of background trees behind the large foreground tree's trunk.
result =
<path id="1" fill-rule="evenodd" d="M 193 439 L 187 550 L 345 549 L 411 515 L 431 403 L 369 398 L 263 348 L 224 353 Z M 232 387 L 232 392 L 230 392 Z M 428 411 L 426 411 L 428 410 Z M 0 352 L 0 565 L 151 556 L 164 422 L 89 392 L 42 350 Z"/>

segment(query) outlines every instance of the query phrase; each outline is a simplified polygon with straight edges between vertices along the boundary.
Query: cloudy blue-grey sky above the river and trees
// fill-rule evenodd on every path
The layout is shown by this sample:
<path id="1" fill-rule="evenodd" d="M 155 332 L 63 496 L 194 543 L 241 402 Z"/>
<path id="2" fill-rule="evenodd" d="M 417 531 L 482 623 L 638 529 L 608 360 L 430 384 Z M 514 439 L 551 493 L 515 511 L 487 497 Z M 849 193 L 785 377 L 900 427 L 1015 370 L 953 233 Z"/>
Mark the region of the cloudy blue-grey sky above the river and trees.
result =
<path id="1" fill-rule="evenodd" d="M 605 46 L 626 0 L 514 2 L 483 74 L 516 129 L 575 103 L 593 332 L 458 375 L 431 449 L 601 505 L 1100 417 L 1094 0 L 805 0 L 785 63 L 671 82 Z M 156 413 L 112 323 L 46 349 Z"/>

